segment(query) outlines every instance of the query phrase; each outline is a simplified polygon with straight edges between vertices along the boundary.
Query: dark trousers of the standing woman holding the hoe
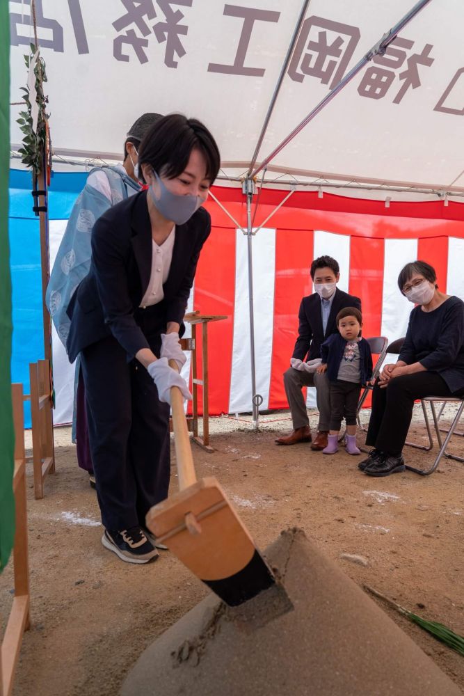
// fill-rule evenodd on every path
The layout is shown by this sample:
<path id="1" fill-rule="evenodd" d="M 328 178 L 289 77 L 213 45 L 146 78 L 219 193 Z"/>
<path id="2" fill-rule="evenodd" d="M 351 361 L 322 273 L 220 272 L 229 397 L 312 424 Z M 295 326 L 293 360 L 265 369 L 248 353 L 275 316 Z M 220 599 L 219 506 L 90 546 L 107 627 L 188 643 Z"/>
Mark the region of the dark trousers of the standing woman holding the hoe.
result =
<path id="1" fill-rule="evenodd" d="M 112 336 L 84 349 L 81 367 L 102 523 L 109 530 L 144 525 L 150 507 L 168 496 L 169 406 Z"/>

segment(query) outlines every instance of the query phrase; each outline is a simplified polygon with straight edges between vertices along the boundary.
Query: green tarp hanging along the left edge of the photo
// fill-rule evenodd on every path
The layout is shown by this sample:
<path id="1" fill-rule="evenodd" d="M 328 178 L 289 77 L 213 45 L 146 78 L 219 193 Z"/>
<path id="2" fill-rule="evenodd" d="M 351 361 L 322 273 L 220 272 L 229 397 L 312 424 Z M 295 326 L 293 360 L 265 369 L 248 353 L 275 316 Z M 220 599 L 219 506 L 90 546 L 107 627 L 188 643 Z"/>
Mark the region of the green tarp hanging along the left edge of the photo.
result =
<path id="1" fill-rule="evenodd" d="M 0 571 L 15 535 L 13 498 L 13 416 L 11 411 L 11 283 L 8 244 L 10 165 L 10 20 L 8 0 L 0 0 Z"/>

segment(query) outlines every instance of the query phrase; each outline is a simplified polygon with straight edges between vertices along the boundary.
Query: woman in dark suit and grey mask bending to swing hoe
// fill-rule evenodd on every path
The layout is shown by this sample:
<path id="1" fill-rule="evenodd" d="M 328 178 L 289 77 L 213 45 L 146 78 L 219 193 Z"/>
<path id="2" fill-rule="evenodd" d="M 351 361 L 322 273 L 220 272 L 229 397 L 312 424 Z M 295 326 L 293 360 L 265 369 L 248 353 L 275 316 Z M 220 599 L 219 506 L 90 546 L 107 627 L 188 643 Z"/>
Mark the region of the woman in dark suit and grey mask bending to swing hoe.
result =
<path id="1" fill-rule="evenodd" d="M 67 352 L 81 355 L 89 439 L 105 531 L 122 560 L 157 557 L 145 528 L 168 496 L 170 387 L 187 385 L 179 345 L 186 303 L 211 221 L 200 207 L 220 164 L 198 120 L 171 115 L 147 133 L 138 153 L 148 186 L 95 223 L 90 272 L 72 297 Z"/>

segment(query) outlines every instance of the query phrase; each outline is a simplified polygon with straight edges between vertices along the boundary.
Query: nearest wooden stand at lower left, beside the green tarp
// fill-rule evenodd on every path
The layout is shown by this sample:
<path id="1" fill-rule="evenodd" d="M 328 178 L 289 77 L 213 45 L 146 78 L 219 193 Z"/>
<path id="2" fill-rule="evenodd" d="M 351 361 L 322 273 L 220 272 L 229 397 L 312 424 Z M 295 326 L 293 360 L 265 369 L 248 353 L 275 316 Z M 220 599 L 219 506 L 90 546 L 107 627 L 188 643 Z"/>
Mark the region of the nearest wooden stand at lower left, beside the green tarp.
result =
<path id="1" fill-rule="evenodd" d="M 27 551 L 27 509 L 26 509 L 26 457 L 24 454 L 24 406 L 22 384 L 13 384 L 13 421 L 15 423 L 15 472 L 13 492 L 15 493 L 15 545 L 13 564 L 15 572 L 15 598 L 11 608 L 5 635 L 1 643 L 0 693 L 11 696 L 13 677 L 22 636 L 29 628 L 29 560 Z M 3 688 L 3 690 L 2 690 Z"/>

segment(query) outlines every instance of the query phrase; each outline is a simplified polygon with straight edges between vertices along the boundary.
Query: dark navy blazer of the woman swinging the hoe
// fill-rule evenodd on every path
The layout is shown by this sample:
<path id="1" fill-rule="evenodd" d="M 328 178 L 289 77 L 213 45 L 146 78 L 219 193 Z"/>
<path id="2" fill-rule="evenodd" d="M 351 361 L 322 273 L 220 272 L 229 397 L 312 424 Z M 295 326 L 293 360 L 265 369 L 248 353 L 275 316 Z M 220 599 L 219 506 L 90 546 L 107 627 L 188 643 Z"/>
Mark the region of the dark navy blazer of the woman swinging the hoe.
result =
<path id="1" fill-rule="evenodd" d="M 164 297 L 150 308 L 150 333 L 163 333 L 168 322 L 181 324 L 195 276 L 200 251 L 211 231 L 211 218 L 199 208 L 191 219 L 175 229 L 173 260 L 163 285 Z M 71 319 L 67 354 L 74 362 L 89 345 L 113 336 L 134 358 L 149 348 L 138 326 L 138 310 L 152 268 L 152 228 L 147 191 L 122 200 L 95 223 L 92 230 L 92 261 L 88 276 L 72 296 L 67 308 Z"/>

